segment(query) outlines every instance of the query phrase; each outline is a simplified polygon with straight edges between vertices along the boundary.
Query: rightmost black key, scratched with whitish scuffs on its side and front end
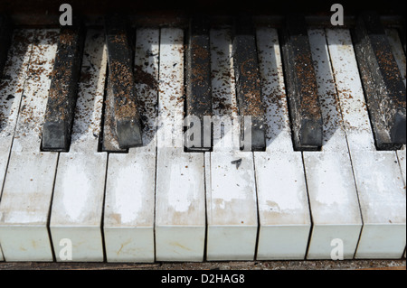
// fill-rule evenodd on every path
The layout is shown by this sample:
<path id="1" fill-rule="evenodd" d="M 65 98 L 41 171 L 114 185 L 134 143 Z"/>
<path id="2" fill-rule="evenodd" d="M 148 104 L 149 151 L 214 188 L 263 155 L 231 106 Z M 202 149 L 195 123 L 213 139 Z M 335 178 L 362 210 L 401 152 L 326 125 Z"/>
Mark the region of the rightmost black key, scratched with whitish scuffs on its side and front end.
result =
<path id="1" fill-rule="evenodd" d="M 399 149 L 406 143 L 405 86 L 378 14 L 359 16 L 354 40 L 376 148 Z"/>

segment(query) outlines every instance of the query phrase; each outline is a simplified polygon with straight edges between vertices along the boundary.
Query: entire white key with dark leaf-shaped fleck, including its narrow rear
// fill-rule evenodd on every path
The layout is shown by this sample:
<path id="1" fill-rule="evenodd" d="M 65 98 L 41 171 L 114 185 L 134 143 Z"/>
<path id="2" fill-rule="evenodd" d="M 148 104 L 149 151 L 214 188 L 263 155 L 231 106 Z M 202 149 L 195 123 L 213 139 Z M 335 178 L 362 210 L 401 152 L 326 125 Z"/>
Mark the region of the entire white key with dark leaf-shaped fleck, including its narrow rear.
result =
<path id="1" fill-rule="evenodd" d="M 213 73 L 213 152 L 205 153 L 206 259 L 253 260 L 258 230 L 253 153 L 239 149 L 239 123 L 232 40 L 228 30 L 211 30 Z M 223 118 L 224 116 L 224 118 Z M 232 123 L 232 117 L 235 121 Z M 236 163 L 238 162 L 238 163 Z"/>

